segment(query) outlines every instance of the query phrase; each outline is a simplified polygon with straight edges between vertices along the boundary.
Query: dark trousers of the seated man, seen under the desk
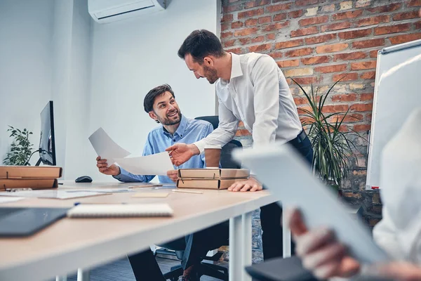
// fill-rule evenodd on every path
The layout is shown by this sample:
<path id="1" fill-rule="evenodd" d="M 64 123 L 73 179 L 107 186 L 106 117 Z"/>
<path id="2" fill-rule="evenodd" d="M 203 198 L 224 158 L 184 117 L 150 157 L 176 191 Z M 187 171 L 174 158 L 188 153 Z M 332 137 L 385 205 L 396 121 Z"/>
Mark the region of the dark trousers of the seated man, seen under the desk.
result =
<path id="1" fill-rule="evenodd" d="M 181 265 L 183 269 L 199 264 L 208 251 L 228 244 L 229 222 L 225 221 L 210 228 L 200 230 L 171 242 L 160 244 L 161 247 L 174 251 L 184 251 Z M 136 281 L 164 281 L 158 263 L 150 249 L 133 256 L 128 256 Z"/>

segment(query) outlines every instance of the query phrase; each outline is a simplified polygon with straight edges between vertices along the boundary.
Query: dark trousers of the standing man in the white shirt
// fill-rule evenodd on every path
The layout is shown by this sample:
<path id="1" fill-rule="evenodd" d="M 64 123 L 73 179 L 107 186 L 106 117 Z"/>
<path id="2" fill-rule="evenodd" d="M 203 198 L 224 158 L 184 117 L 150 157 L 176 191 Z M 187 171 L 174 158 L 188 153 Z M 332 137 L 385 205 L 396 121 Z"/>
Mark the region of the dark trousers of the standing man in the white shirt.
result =
<path id="1" fill-rule="evenodd" d="M 302 157 L 311 166 L 313 160 L 313 148 L 309 138 L 300 141 L 299 138 L 295 138 L 288 142 L 288 145 L 292 145 Z M 264 207 L 260 207 L 260 223 L 262 225 L 262 244 L 263 244 L 263 259 L 272 259 L 275 257 L 282 256 L 283 244 L 282 244 L 282 208 L 278 203 L 268 204 Z M 294 251 L 294 247 L 291 247 Z"/>

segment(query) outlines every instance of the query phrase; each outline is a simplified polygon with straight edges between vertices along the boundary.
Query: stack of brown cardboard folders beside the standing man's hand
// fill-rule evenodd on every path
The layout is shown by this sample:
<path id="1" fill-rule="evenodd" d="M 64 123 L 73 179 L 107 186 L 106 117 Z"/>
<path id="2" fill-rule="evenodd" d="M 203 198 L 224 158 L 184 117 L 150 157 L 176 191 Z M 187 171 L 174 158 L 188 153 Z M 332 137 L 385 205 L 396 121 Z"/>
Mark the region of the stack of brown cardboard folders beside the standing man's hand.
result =
<path id="1" fill-rule="evenodd" d="M 227 189 L 249 177 L 248 169 L 179 169 L 177 187 Z"/>

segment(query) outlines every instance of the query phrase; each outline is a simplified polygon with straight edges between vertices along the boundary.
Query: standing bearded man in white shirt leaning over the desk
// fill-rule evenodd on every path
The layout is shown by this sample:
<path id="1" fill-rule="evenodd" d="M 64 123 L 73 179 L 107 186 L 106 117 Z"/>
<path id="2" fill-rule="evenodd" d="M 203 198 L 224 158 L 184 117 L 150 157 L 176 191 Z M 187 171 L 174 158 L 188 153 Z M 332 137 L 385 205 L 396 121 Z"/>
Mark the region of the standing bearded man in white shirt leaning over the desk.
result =
<path id="1" fill-rule="evenodd" d="M 206 145 L 225 145 L 234 138 L 240 120 L 252 133 L 254 146 L 275 141 L 290 143 L 312 163 L 312 144 L 302 129 L 288 83 L 273 58 L 259 53 L 227 53 L 218 37 L 208 30 L 192 32 L 178 50 L 178 56 L 197 79 L 216 82 L 220 124 L 201 141 L 167 148 L 173 164 L 180 165 L 199 155 Z M 252 176 L 234 183 L 228 190 L 257 191 L 262 190 L 262 184 Z M 282 256 L 281 214 L 276 203 L 260 208 L 265 259 Z"/>

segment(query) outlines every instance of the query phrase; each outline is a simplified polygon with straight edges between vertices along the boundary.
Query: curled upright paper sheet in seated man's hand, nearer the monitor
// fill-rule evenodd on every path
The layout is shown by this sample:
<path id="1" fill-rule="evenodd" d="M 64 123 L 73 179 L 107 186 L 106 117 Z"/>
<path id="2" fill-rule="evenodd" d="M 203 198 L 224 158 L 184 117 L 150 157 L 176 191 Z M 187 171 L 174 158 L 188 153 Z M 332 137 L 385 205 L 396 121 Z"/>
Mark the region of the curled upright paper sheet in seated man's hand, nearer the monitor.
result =
<path id="1" fill-rule="evenodd" d="M 107 159 L 108 166 L 111 166 L 116 162 L 116 158 L 124 158 L 131 154 L 127 150 L 121 148 L 120 145 L 116 144 L 102 128 L 96 130 L 89 137 L 89 141 L 91 141 L 97 155 L 102 159 Z"/>

